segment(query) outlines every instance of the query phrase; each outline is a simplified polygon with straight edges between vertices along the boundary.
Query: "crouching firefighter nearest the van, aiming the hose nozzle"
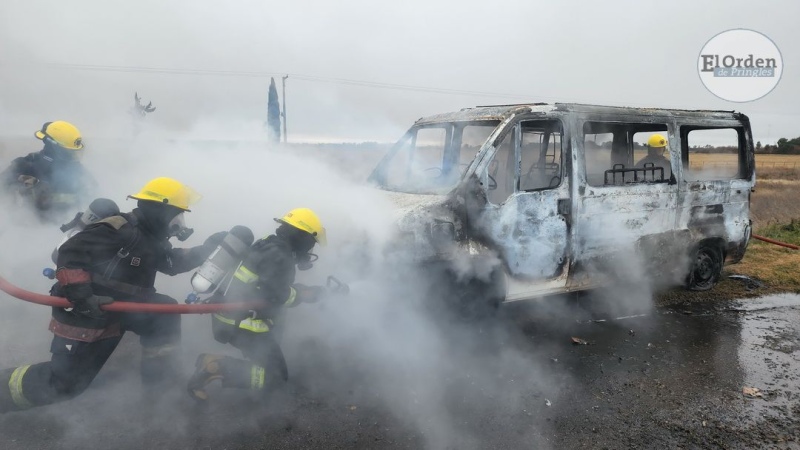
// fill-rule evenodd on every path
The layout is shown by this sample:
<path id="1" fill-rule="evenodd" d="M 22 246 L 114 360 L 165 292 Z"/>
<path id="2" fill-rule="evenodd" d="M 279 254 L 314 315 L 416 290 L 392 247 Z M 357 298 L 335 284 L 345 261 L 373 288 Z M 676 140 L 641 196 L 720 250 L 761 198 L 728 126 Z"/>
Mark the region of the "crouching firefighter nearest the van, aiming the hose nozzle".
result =
<path id="1" fill-rule="evenodd" d="M 293 209 L 281 219 L 275 234 L 253 243 L 223 294 L 212 302 L 258 301 L 253 311 L 219 313 L 211 317 L 214 338 L 241 350 L 246 359 L 201 354 L 189 380 L 189 394 L 208 399 L 205 386 L 221 380 L 223 387 L 267 393 L 289 377 L 283 352 L 275 336 L 281 312 L 300 303 L 315 303 L 321 286 L 296 284 L 295 269 L 311 268 L 315 244 L 325 245 L 325 228 L 307 208 Z"/>

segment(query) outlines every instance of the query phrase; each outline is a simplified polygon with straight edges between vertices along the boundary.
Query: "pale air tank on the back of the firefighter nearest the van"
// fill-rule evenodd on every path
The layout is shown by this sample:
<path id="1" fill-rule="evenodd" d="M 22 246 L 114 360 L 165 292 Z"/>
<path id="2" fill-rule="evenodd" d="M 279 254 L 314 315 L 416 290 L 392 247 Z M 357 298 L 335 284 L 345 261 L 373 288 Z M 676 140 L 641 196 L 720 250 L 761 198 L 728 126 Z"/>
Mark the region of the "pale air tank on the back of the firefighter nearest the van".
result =
<path id="1" fill-rule="evenodd" d="M 192 275 L 192 290 L 187 303 L 197 301 L 197 294 L 214 291 L 225 276 L 235 269 L 255 240 L 249 228 L 237 225 L 228 232 L 208 259 Z"/>

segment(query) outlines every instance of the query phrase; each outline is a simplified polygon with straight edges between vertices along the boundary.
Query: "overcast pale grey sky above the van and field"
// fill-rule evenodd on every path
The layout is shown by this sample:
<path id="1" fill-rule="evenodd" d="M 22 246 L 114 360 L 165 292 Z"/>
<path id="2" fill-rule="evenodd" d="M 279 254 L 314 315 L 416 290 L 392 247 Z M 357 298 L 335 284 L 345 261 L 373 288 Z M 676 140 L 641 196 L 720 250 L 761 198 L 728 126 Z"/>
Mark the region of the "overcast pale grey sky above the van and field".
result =
<path id="1" fill-rule="evenodd" d="M 69 120 L 128 135 L 261 132 L 269 77 L 286 80 L 289 140 L 396 140 L 421 116 L 532 101 L 725 109 L 764 143 L 800 136 L 800 3 L 782 1 L 370 2 L 4 0 L 0 136 Z M 759 31 L 781 51 L 777 87 L 747 103 L 703 86 L 714 35 Z"/>

